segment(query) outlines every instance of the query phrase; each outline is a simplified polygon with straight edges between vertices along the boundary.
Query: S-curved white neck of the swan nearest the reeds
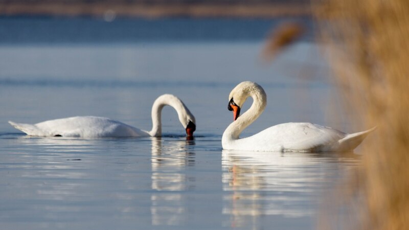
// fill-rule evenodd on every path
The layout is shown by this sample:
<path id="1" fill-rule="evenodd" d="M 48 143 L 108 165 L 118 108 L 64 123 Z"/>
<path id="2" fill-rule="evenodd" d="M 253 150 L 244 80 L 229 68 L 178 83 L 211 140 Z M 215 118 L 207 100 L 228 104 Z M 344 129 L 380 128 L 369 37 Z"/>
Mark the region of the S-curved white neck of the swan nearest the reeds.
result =
<path id="1" fill-rule="evenodd" d="M 228 140 L 237 140 L 239 139 L 240 133 L 252 124 L 260 114 L 264 111 L 267 104 L 266 94 L 261 87 L 252 87 L 248 90 L 244 90 L 244 98 L 252 97 L 253 104 L 252 106 L 244 112 L 240 117 L 237 118 L 232 124 L 223 133 L 222 139 L 225 141 Z M 244 100 L 245 100 L 244 99 Z"/>

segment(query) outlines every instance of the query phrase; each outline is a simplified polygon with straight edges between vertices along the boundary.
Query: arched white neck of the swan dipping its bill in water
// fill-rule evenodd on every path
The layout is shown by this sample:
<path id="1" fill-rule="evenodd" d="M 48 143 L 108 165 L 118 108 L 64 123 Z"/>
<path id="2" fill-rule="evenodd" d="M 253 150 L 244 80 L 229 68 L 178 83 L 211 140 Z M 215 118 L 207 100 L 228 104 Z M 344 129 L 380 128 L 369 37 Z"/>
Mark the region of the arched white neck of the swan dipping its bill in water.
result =
<path id="1" fill-rule="evenodd" d="M 149 131 L 151 136 L 161 136 L 162 135 L 162 109 L 165 105 L 172 106 L 178 117 L 184 116 L 186 113 L 186 106 L 178 98 L 173 95 L 162 95 L 158 97 L 152 106 L 152 130 Z M 186 128 L 186 127 L 185 127 Z"/>

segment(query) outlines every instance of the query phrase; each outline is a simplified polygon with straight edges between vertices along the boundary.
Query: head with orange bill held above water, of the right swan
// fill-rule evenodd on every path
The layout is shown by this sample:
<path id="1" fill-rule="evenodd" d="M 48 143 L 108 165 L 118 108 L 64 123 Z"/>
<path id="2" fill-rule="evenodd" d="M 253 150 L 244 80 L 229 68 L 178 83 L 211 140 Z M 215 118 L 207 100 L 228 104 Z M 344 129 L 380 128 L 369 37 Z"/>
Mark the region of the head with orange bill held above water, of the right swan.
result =
<path id="1" fill-rule="evenodd" d="M 264 93 L 264 89 L 257 83 L 251 81 L 243 81 L 236 87 L 234 87 L 234 89 L 230 92 L 229 104 L 227 108 L 230 111 L 233 111 L 234 121 L 236 121 L 240 116 L 240 109 L 246 99 L 257 91 L 262 91 Z"/>

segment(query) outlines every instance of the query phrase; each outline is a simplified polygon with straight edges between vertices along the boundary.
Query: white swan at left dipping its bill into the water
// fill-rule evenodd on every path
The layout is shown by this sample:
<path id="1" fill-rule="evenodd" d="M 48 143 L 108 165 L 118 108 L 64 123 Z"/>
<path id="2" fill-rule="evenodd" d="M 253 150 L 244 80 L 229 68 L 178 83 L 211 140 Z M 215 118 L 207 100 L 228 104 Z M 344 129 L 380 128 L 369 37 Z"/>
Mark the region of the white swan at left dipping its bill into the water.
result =
<path id="1" fill-rule="evenodd" d="M 71 117 L 37 124 L 20 124 L 9 121 L 16 129 L 31 136 L 64 136 L 64 137 L 147 137 L 161 136 L 161 113 L 165 105 L 172 106 L 180 123 L 186 129 L 188 137 L 196 130 L 196 120 L 186 105 L 177 97 L 165 94 L 158 97 L 152 106 L 152 130 L 145 131 L 119 121 L 100 117 Z"/>

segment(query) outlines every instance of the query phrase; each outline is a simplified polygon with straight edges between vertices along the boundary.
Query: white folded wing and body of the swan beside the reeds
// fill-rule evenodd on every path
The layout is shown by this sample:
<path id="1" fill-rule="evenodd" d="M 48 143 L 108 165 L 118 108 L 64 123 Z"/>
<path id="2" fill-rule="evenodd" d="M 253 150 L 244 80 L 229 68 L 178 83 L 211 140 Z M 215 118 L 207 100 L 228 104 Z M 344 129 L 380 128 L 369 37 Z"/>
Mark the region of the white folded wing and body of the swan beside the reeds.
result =
<path id="1" fill-rule="evenodd" d="M 267 128 L 248 142 L 260 151 L 329 151 L 346 133 L 311 123 L 285 123 Z"/>

